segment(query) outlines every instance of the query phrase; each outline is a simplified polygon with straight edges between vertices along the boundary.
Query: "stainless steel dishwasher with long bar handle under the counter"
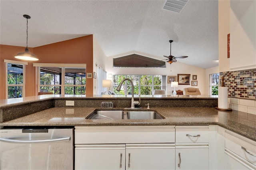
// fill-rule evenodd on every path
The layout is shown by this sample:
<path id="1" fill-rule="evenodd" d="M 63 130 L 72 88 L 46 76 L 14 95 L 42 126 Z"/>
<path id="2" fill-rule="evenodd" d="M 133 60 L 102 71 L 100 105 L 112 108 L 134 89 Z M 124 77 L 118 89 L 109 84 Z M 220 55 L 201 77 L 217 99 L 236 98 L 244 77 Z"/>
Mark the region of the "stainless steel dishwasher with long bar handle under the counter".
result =
<path id="1" fill-rule="evenodd" d="M 0 129 L 1 170 L 73 170 L 74 128 Z"/>

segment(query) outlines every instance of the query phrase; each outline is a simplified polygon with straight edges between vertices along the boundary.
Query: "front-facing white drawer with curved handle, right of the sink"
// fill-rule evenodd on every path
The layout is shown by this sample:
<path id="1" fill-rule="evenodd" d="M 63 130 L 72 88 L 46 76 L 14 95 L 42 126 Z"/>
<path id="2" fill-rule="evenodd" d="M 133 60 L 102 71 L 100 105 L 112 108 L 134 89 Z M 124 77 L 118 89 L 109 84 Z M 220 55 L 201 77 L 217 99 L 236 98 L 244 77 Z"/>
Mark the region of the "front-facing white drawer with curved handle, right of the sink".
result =
<path id="1" fill-rule="evenodd" d="M 176 143 L 208 143 L 208 126 L 176 126 Z"/>

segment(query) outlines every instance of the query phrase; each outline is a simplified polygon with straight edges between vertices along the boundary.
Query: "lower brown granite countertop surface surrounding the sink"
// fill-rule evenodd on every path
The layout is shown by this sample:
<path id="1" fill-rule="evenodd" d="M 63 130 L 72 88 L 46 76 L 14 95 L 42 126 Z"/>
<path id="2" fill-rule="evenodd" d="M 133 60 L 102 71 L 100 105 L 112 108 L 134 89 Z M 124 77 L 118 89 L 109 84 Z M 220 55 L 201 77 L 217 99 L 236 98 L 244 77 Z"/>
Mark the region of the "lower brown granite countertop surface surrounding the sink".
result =
<path id="1" fill-rule="evenodd" d="M 256 115 L 240 111 L 220 111 L 213 107 L 154 107 L 166 119 L 155 120 L 88 120 L 92 107 L 54 107 L 1 123 L 1 126 L 154 126 L 219 125 L 256 141 Z M 123 108 L 114 108 L 121 109 Z M 146 108 L 142 109 L 148 111 Z M 142 111 L 141 110 L 141 111 Z"/>

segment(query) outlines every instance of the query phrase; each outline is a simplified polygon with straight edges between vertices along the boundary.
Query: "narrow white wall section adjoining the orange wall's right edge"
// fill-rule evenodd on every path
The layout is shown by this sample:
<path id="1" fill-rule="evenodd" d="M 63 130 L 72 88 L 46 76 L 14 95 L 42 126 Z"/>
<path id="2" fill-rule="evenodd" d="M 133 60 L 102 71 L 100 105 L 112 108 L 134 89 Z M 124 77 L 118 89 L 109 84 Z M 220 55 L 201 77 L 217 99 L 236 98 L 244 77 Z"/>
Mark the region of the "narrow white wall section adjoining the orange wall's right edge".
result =
<path id="1" fill-rule="evenodd" d="M 106 55 L 100 47 L 99 43 L 93 36 L 93 71 L 97 73 L 97 66 L 102 67 L 103 70 L 106 70 Z M 92 75 L 93 76 L 93 75 Z M 97 77 L 97 76 L 96 76 Z M 96 95 L 96 80 L 93 79 L 93 94 Z"/>

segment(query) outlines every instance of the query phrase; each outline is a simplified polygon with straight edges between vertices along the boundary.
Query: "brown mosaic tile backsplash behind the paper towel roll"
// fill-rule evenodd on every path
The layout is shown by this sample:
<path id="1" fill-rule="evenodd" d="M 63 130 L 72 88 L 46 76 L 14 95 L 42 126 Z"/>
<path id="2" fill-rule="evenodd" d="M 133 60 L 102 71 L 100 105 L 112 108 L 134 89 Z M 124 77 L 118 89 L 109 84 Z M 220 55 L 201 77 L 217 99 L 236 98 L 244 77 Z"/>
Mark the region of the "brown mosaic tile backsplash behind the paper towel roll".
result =
<path id="1" fill-rule="evenodd" d="M 256 99 L 256 69 L 220 72 L 220 84 L 222 76 L 229 97 Z"/>

